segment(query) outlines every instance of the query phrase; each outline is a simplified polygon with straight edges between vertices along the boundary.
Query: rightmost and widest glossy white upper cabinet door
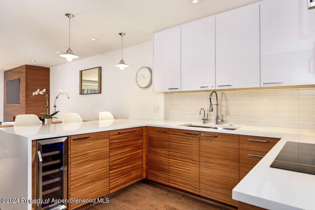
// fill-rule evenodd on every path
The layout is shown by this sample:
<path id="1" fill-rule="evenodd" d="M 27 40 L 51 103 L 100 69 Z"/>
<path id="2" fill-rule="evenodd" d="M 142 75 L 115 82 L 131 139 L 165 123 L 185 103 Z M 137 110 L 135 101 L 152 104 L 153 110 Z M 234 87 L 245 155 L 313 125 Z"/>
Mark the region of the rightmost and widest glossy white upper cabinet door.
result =
<path id="1" fill-rule="evenodd" d="M 261 87 L 315 84 L 315 9 L 307 1 L 261 2 Z"/>

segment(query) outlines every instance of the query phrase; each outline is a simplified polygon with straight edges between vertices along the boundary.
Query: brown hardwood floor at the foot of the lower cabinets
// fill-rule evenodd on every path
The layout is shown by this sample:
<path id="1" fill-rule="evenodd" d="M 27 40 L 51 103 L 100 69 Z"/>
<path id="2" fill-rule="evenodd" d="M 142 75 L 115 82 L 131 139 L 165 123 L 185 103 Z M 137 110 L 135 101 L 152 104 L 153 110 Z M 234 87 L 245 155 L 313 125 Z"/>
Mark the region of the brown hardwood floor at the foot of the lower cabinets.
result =
<path id="1" fill-rule="evenodd" d="M 89 210 L 227 210 L 228 207 L 205 202 L 157 185 L 136 183 L 110 195 L 109 203 Z"/>

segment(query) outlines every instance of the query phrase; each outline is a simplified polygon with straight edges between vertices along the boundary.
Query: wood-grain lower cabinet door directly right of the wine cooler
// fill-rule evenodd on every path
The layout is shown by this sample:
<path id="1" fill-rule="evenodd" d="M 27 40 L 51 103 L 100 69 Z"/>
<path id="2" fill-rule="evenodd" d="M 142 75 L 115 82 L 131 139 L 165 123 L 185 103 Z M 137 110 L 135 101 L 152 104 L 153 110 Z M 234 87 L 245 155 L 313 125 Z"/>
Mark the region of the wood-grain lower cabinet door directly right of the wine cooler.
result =
<path id="1" fill-rule="evenodd" d="M 109 132 L 70 136 L 69 198 L 94 199 L 109 194 Z M 84 205 L 71 203 L 69 209 Z"/>

